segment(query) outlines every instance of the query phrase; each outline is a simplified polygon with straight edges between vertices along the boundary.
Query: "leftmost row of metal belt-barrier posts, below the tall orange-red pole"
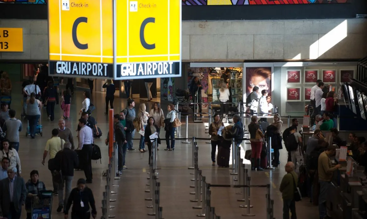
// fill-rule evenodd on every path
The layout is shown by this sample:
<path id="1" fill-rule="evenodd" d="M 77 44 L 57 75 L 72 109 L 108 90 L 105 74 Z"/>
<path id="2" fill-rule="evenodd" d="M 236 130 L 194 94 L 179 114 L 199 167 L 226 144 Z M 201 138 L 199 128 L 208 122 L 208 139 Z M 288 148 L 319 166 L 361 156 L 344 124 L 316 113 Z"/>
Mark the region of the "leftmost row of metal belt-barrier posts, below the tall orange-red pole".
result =
<path id="1" fill-rule="evenodd" d="M 119 174 L 117 174 L 117 144 L 113 144 L 112 157 L 110 158 L 110 163 L 108 164 L 108 169 L 105 172 L 106 175 L 106 185 L 105 192 L 103 192 L 102 199 L 102 219 L 115 218 L 115 215 L 110 215 L 110 209 L 115 208 L 115 206 L 110 205 L 110 203 L 115 202 L 116 199 L 112 198 L 111 195 L 117 194 L 112 188 L 117 188 L 116 180 L 121 179 Z"/>

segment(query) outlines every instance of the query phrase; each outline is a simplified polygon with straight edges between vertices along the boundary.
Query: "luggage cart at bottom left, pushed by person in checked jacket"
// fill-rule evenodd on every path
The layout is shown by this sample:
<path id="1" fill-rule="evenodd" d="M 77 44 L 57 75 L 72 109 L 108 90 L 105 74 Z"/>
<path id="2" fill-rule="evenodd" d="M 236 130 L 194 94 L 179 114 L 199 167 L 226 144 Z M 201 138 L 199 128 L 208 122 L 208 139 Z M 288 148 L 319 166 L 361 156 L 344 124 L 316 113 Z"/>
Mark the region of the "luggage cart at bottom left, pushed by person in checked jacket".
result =
<path id="1" fill-rule="evenodd" d="M 52 212 L 52 191 L 44 191 L 37 196 L 33 196 L 31 205 L 31 218 L 51 219 Z"/>

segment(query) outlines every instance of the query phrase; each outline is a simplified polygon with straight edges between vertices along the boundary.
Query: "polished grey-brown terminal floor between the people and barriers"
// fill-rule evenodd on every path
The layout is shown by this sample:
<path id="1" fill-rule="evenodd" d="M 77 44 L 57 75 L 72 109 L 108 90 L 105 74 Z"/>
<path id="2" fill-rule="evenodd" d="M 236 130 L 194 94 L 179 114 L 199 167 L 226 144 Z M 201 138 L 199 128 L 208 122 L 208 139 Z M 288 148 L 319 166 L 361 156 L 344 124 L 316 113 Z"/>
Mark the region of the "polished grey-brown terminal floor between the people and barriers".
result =
<path id="1" fill-rule="evenodd" d="M 21 114 L 21 83 L 15 83 L 13 85 L 12 96 L 12 108 L 17 111 L 17 118 Z M 19 92 L 17 92 L 17 89 Z M 19 94 L 18 94 L 19 93 Z M 66 126 L 72 130 L 76 130 L 77 119 L 79 118 L 78 112 L 81 109 L 81 102 L 83 101 L 82 92 L 76 91 L 71 105 L 70 119 L 66 121 Z M 105 100 L 103 93 L 94 93 L 92 102 L 97 106 L 97 109 L 93 113 L 93 116 L 98 122 L 98 127 L 101 128 L 103 136 L 101 139 L 95 139 L 95 143 L 101 147 L 102 150 L 102 164 L 98 162 L 92 162 L 94 179 L 93 183 L 88 186 L 93 190 L 97 203 L 98 217 L 101 216 L 101 200 L 102 192 L 105 187 L 105 178 L 102 177 L 102 171 L 106 170 L 108 163 L 108 148 L 104 144 L 104 140 L 107 134 L 108 121 L 104 115 Z M 136 108 L 139 103 L 142 102 L 137 99 Z M 150 102 L 147 108 L 151 107 Z M 121 109 L 126 108 L 126 99 L 115 99 L 115 110 L 119 112 Z M 166 107 L 164 106 L 165 110 Z M 47 166 L 41 164 L 41 157 L 43 155 L 46 141 L 51 137 L 51 130 L 57 128 L 57 119 L 51 122 L 47 120 L 46 111 L 42 111 L 42 125 L 43 125 L 43 137 L 36 136 L 35 139 L 25 136 L 26 121 L 23 121 L 23 131 L 21 133 L 19 157 L 21 159 L 22 177 L 25 181 L 29 179 L 29 173 L 32 170 L 38 170 L 40 172 L 40 180 L 46 183 L 48 189 L 52 189 L 51 174 L 48 171 Z M 57 105 L 55 114 L 57 118 L 61 118 L 62 112 Z M 182 136 L 185 134 L 185 125 L 182 126 Z M 205 126 L 203 123 L 189 123 L 188 124 L 189 137 L 196 136 L 201 138 L 207 138 L 208 134 L 205 133 Z M 74 134 L 76 138 L 76 132 Z M 161 137 L 164 137 L 164 131 L 161 133 Z M 138 138 L 135 136 L 135 138 Z M 77 142 L 75 142 L 77 143 Z M 138 148 L 139 141 L 134 141 L 134 148 Z M 203 175 L 207 177 L 208 183 L 218 184 L 235 184 L 233 176 L 230 175 L 230 171 L 224 168 L 212 167 L 210 152 L 210 144 L 206 144 L 206 141 L 198 141 L 199 146 L 199 167 L 203 170 Z M 175 151 L 164 151 L 165 145 L 161 145 L 161 150 L 158 152 L 158 166 L 159 170 L 159 182 L 161 182 L 160 188 L 160 205 L 163 207 L 163 218 L 166 219 L 192 219 L 196 218 L 196 215 L 201 210 L 193 209 L 192 207 L 196 203 L 190 202 L 193 199 L 193 195 L 189 194 L 194 190 L 189 187 L 192 185 L 190 179 L 193 175 L 190 175 L 192 170 L 188 170 L 191 166 L 191 144 L 182 144 L 180 140 L 176 141 Z M 243 144 L 241 150 L 244 152 L 250 148 L 250 145 Z M 285 150 L 281 151 L 281 168 L 276 170 L 266 170 L 251 173 L 251 184 L 271 184 L 271 197 L 274 200 L 274 217 L 282 218 L 283 202 L 281 194 L 279 193 L 279 184 L 281 178 L 285 174 L 284 164 L 286 163 L 287 154 Z M 48 159 L 48 158 L 47 158 Z M 148 216 L 147 213 L 151 209 L 146 208 L 146 205 L 150 205 L 149 201 L 145 201 L 144 198 L 148 196 L 145 193 L 145 184 L 147 183 L 148 167 L 148 153 L 140 153 L 138 151 L 127 152 L 127 170 L 124 170 L 121 179 L 119 180 L 118 188 L 114 188 L 118 193 L 112 196 L 117 199 L 117 202 L 113 203 L 116 208 L 111 210 L 112 215 L 116 215 L 116 218 L 121 219 L 145 219 L 154 218 Z M 83 178 L 84 173 L 82 171 L 76 171 L 73 184 L 76 185 L 78 178 Z M 216 208 L 217 215 L 222 219 L 234 219 L 241 217 L 246 209 L 239 208 L 240 202 L 237 199 L 240 198 L 236 192 L 239 189 L 236 188 L 212 188 L 211 202 L 212 206 Z M 252 188 L 251 189 L 251 213 L 255 214 L 254 218 L 266 218 L 266 202 L 265 202 L 266 190 L 264 188 Z M 56 212 L 58 205 L 57 198 L 53 203 L 53 219 L 63 218 L 62 214 Z M 312 206 L 308 199 L 302 200 L 296 204 L 298 219 L 318 218 L 317 207 Z M 23 211 L 24 212 L 24 211 Z M 22 215 L 25 218 L 25 214 Z"/>

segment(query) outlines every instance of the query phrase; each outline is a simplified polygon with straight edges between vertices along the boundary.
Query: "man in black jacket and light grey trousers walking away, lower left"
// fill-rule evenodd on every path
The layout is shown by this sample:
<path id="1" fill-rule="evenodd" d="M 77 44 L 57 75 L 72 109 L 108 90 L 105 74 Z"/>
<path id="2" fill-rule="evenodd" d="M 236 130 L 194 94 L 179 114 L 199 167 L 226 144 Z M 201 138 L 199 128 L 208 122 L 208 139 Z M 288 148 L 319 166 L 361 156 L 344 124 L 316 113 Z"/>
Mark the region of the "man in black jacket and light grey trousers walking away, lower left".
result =
<path id="1" fill-rule="evenodd" d="M 74 169 L 79 166 L 78 155 L 75 151 L 71 149 L 71 146 L 72 145 L 70 142 L 66 142 L 63 146 L 64 147 L 63 150 L 57 152 L 54 158 L 55 164 L 59 164 L 59 166 L 57 166 L 58 168 L 57 170 L 61 171 L 62 176 L 62 181 L 61 183 L 59 183 L 58 186 L 59 207 L 57 208 L 57 212 L 61 212 L 62 208 L 66 206 L 66 201 L 68 200 L 71 192 L 71 185 L 74 177 Z M 65 183 L 65 199 L 63 199 L 64 183 Z"/>

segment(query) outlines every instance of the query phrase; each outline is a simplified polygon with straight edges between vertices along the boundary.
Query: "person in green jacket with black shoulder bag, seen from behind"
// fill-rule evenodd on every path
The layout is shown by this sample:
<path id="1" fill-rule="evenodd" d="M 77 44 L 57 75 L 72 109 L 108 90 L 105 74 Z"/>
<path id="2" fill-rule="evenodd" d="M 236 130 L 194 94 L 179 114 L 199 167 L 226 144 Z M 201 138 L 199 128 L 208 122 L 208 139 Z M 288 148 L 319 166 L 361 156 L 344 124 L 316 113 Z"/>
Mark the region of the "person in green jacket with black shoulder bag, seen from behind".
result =
<path id="1" fill-rule="evenodd" d="M 298 175 L 294 172 L 293 162 L 288 162 L 285 168 L 287 174 L 284 175 L 279 186 L 279 191 L 283 198 L 283 219 L 289 219 L 289 211 L 292 213 L 291 219 L 297 219 L 294 186 L 297 187 Z"/>

